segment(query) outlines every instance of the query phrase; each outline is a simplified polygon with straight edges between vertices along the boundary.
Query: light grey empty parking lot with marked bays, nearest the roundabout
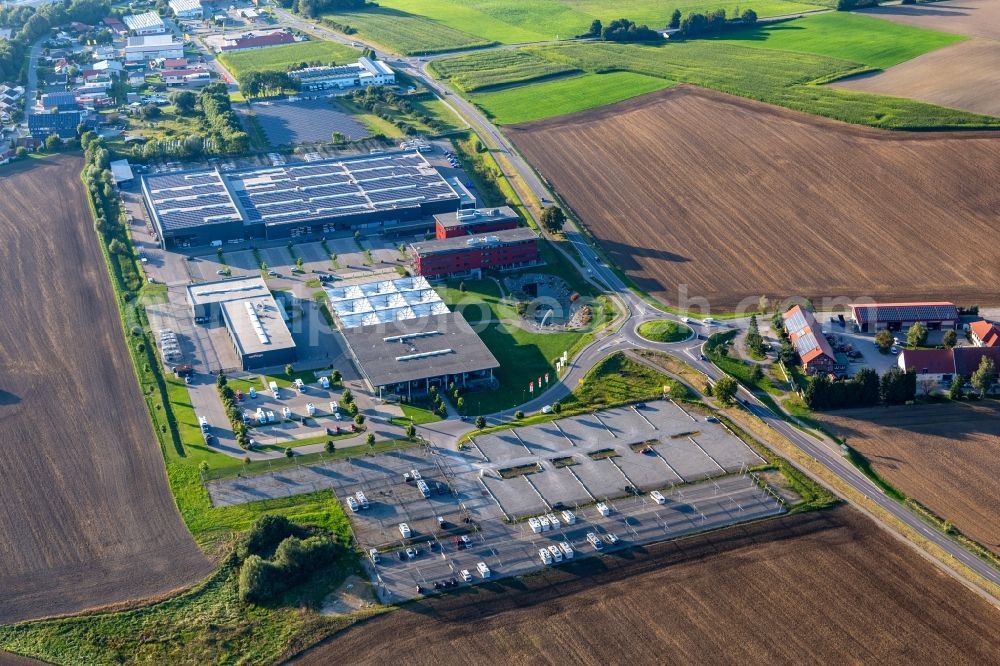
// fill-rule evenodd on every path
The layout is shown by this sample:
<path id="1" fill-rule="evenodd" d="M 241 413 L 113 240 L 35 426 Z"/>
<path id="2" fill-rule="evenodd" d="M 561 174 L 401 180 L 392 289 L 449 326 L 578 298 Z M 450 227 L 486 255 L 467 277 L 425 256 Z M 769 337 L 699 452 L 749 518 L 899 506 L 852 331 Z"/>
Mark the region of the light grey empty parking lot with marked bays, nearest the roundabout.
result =
<path id="1" fill-rule="evenodd" d="M 509 518 L 723 476 L 762 461 L 719 423 L 656 401 L 475 437 L 482 481 Z M 523 477 L 511 470 L 537 464 Z M 567 465 L 560 467 L 560 465 Z M 553 477 L 550 479 L 550 477 Z"/>

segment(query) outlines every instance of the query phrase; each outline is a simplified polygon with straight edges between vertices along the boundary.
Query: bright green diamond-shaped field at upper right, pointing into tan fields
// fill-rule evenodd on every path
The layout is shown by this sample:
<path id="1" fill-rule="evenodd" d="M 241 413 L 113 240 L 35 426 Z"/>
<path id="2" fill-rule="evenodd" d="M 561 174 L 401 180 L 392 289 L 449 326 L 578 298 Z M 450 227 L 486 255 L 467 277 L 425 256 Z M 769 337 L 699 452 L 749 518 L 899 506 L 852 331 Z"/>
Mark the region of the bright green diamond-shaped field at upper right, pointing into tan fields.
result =
<path id="1" fill-rule="evenodd" d="M 741 30 L 720 41 L 813 53 L 885 69 L 965 39 L 961 35 L 835 12 Z"/>

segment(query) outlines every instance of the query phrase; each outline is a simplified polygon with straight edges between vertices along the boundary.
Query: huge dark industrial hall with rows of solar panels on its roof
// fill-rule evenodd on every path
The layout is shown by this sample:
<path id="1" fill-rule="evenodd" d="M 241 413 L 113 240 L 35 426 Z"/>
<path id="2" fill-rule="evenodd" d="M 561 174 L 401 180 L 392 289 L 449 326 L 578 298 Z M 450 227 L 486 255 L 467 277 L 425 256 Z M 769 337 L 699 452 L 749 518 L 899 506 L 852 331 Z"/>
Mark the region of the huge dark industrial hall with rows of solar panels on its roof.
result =
<path id="1" fill-rule="evenodd" d="M 315 240 L 475 205 L 416 151 L 155 174 L 143 177 L 142 191 L 165 248 Z"/>

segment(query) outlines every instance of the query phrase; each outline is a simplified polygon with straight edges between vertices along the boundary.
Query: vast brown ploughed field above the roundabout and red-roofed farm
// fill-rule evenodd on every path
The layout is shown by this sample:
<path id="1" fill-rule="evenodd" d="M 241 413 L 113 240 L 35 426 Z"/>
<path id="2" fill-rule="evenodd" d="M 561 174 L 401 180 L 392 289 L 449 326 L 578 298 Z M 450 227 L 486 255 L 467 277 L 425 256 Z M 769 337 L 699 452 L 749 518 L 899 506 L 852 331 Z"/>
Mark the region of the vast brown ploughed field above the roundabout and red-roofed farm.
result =
<path id="1" fill-rule="evenodd" d="M 1000 134 L 881 131 L 691 86 L 507 131 L 668 303 L 1000 299 L 981 278 L 1000 265 Z"/>

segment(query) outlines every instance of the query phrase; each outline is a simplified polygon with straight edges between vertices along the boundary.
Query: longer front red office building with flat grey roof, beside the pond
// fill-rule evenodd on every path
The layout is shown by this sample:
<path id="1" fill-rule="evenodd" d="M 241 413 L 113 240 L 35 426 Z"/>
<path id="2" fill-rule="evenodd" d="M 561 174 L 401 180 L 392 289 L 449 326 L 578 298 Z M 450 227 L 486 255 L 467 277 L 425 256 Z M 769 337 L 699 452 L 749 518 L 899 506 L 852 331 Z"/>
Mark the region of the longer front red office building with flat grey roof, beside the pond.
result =
<path id="1" fill-rule="evenodd" d="M 458 236 L 413 243 L 417 275 L 476 275 L 538 263 L 538 234 L 526 227 L 487 236 Z"/>

